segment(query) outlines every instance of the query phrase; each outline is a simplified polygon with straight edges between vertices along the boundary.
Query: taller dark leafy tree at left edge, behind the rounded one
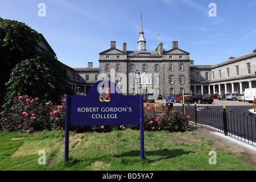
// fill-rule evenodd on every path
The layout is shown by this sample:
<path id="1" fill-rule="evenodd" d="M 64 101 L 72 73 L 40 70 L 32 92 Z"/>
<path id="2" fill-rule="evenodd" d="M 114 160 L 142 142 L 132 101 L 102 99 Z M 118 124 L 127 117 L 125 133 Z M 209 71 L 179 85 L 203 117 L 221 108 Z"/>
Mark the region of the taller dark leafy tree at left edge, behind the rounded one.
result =
<path id="1" fill-rule="evenodd" d="M 40 42 L 38 32 L 16 20 L 0 17 L 0 106 L 6 93 L 5 83 L 20 61 L 35 56 Z"/>

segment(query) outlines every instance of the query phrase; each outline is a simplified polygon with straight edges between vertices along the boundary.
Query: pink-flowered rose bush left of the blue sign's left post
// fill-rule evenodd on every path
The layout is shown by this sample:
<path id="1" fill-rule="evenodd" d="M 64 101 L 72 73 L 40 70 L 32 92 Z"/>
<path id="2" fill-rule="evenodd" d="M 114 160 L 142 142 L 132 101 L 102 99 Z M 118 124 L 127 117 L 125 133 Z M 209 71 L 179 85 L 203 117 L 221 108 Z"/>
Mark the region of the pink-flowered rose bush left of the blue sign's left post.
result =
<path id="1" fill-rule="evenodd" d="M 1 113 L 3 130 L 32 133 L 33 131 L 63 129 L 65 126 L 65 100 L 63 105 L 40 104 L 39 98 L 18 96 L 9 110 Z"/>

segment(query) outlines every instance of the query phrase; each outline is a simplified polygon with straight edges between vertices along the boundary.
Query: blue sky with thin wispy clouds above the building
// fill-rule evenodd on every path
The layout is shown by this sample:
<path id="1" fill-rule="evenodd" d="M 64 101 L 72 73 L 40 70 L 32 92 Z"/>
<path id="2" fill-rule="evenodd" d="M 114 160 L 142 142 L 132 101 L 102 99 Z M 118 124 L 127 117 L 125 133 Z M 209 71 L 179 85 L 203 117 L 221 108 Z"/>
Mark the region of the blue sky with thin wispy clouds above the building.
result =
<path id="1" fill-rule="evenodd" d="M 39 3 L 46 16 L 39 16 Z M 216 4 L 216 16 L 210 3 Z M 127 43 L 138 49 L 141 13 L 147 50 L 159 42 L 166 50 L 172 41 L 190 54 L 195 64 L 217 64 L 256 48 L 255 0 L 0 0 L 0 16 L 24 22 L 42 33 L 69 67 L 98 67 L 98 53 Z"/>

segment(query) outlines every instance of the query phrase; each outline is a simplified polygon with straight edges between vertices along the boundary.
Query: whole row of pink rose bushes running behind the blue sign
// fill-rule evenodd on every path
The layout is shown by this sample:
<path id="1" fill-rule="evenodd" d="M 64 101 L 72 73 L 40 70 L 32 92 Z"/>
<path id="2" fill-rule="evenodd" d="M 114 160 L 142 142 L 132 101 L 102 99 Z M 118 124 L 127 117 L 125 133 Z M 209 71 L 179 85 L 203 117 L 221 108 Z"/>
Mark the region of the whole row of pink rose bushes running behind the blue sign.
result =
<path id="1" fill-rule="evenodd" d="M 26 133 L 42 130 L 58 130 L 65 127 L 65 97 L 61 96 L 61 105 L 48 101 L 44 104 L 39 102 L 39 98 L 28 96 L 18 96 L 14 99 L 9 110 L 4 110 L 0 114 L 0 127 L 2 130 L 21 130 Z M 188 120 L 192 115 L 185 116 L 174 109 L 168 111 L 162 109 L 158 113 L 150 107 L 144 110 L 144 130 L 170 130 L 187 131 L 189 129 Z M 73 129 L 80 132 L 111 131 L 114 129 L 125 130 L 139 129 L 139 126 L 77 126 Z"/>

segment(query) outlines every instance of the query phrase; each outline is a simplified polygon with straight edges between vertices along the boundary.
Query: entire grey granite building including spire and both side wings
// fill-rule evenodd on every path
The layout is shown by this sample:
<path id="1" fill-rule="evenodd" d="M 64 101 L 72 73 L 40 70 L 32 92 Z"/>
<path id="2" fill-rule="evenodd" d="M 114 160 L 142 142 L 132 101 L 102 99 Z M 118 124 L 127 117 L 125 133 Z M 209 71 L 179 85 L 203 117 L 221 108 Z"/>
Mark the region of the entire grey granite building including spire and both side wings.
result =
<path id="1" fill-rule="evenodd" d="M 88 93 L 100 80 L 111 80 L 123 94 L 154 93 L 163 97 L 178 93 L 222 94 L 244 93 L 246 88 L 256 88 L 256 49 L 240 57 L 216 65 L 196 65 L 189 59 L 189 52 L 172 42 L 172 49 L 164 50 L 159 43 L 155 51 L 148 51 L 143 25 L 139 31 L 138 49 L 117 49 L 116 42 L 100 52 L 99 67 L 92 62 L 86 68 L 70 68 L 64 65 L 71 78 L 69 85 L 77 93 Z M 139 77 L 136 73 L 139 72 Z"/>

